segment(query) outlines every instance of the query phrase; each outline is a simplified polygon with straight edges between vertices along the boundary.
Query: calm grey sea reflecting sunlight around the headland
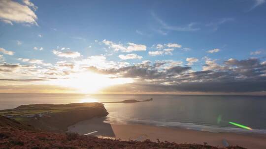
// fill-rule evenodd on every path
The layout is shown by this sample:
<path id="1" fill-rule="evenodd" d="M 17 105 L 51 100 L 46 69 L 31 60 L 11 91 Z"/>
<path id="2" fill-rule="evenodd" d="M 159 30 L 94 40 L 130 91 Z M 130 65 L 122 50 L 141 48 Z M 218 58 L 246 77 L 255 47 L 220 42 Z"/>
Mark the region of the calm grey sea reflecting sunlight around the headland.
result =
<path id="1" fill-rule="evenodd" d="M 149 98 L 154 100 L 105 103 L 109 112 L 107 123 L 266 134 L 266 97 L 256 96 L 0 94 L 0 109 L 33 103 L 108 102 Z M 219 116 L 220 123 L 217 122 Z M 244 124 L 253 130 L 236 128 L 228 122 Z"/>

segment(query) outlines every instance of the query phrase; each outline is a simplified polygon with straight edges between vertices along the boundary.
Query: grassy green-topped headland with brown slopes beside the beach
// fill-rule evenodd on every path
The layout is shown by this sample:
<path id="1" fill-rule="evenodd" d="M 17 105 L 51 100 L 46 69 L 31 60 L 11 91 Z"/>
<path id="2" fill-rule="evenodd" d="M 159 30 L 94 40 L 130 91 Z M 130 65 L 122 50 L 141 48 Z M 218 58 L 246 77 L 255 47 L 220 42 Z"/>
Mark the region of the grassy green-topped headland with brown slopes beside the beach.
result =
<path id="1" fill-rule="evenodd" d="M 46 131 L 66 131 L 71 124 L 108 112 L 102 103 L 30 104 L 0 110 L 0 115 Z"/>

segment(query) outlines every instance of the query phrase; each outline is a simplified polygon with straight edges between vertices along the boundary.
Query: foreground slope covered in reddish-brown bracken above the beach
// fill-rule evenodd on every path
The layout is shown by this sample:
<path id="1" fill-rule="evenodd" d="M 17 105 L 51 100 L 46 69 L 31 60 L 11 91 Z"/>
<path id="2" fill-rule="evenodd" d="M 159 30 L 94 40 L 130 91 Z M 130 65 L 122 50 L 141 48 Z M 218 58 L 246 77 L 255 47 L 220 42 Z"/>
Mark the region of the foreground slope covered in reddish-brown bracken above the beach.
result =
<path id="1" fill-rule="evenodd" d="M 29 127 L 31 129 L 29 129 Z M 208 145 L 121 141 L 77 134 L 37 131 L 31 126 L 0 116 L 0 149 L 244 149 Z"/>

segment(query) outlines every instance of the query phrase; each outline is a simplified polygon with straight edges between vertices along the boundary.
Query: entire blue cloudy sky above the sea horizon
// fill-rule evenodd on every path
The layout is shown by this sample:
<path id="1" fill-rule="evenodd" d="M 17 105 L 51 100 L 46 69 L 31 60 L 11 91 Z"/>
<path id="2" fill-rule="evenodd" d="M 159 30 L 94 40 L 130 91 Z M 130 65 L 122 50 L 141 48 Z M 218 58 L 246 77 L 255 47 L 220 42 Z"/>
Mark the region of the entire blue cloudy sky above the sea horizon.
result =
<path id="1" fill-rule="evenodd" d="M 266 0 L 0 0 L 0 93 L 266 95 Z"/>

